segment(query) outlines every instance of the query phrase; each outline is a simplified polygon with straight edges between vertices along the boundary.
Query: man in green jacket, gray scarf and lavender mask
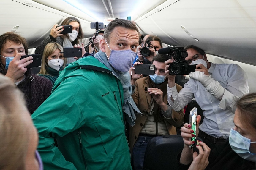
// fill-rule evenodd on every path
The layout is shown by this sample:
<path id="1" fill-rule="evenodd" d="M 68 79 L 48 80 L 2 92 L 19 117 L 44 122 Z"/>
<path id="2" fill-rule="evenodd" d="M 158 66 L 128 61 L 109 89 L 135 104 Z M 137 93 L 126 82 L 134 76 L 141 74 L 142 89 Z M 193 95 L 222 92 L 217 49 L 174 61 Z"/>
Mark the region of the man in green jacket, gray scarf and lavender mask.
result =
<path id="1" fill-rule="evenodd" d="M 113 20 L 95 57 L 82 57 L 60 73 L 32 114 L 45 169 L 132 169 L 125 122 L 134 125 L 139 112 L 129 74 L 138 45 L 137 27 Z"/>

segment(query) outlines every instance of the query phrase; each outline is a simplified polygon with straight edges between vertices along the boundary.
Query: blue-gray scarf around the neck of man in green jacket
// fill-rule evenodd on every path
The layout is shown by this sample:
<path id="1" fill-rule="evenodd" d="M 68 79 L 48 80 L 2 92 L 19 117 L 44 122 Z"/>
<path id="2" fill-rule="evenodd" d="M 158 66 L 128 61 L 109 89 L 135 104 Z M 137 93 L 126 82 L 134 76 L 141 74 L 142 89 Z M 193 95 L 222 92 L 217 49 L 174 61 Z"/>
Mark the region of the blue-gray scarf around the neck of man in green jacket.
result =
<path id="1" fill-rule="evenodd" d="M 127 122 L 130 126 L 134 126 L 136 119 L 135 113 L 142 114 L 140 110 L 137 108 L 136 104 L 134 103 L 131 95 L 132 95 L 132 86 L 131 86 L 131 75 L 129 72 L 118 72 L 114 70 L 108 62 L 107 56 L 101 50 L 97 52 L 94 57 L 99 60 L 99 62 L 103 63 L 110 71 L 112 71 L 113 75 L 115 75 L 122 83 L 123 90 L 124 90 L 124 106 L 123 111 L 125 113 L 125 117 Z"/>

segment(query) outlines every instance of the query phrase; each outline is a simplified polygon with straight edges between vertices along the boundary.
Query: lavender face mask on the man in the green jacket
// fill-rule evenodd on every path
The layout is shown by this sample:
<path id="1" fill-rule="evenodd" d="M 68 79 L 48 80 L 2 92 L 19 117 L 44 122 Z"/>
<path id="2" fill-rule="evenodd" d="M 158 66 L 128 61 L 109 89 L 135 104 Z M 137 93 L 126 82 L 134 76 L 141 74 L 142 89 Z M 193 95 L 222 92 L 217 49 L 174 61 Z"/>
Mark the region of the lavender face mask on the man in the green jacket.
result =
<path id="1" fill-rule="evenodd" d="M 107 43 L 107 41 L 105 41 Z M 108 43 L 107 43 L 108 45 Z M 108 46 L 110 49 L 110 47 Z M 111 50 L 108 62 L 119 72 L 128 72 L 136 54 L 132 50 Z"/>

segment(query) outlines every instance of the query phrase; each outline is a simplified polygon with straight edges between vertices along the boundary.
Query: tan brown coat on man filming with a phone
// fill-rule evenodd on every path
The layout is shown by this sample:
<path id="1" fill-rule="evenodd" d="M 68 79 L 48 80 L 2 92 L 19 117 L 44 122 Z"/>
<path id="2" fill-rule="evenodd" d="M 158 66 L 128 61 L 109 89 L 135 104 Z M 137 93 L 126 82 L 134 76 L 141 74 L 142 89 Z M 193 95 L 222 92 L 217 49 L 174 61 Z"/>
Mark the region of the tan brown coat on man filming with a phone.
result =
<path id="1" fill-rule="evenodd" d="M 145 87 L 148 87 L 148 77 L 143 77 L 135 82 L 135 94 L 132 95 L 133 100 L 135 101 L 138 109 L 143 113 L 143 115 L 136 115 L 135 125 L 130 127 L 129 132 L 129 145 L 130 145 L 130 152 L 132 153 L 132 148 L 138 138 L 138 135 L 146 122 L 147 116 L 150 112 L 148 107 L 148 103 L 150 103 L 152 96 L 145 91 Z M 177 91 L 179 92 L 182 87 L 176 84 Z M 147 93 L 147 94 L 146 94 Z M 163 94 L 164 102 L 167 104 L 167 94 Z M 147 102 L 148 100 L 148 102 Z M 176 135 L 176 127 L 180 127 L 184 122 L 184 113 L 183 109 L 179 112 L 176 112 L 172 109 L 172 118 L 165 119 L 166 127 L 169 131 L 170 135 Z"/>

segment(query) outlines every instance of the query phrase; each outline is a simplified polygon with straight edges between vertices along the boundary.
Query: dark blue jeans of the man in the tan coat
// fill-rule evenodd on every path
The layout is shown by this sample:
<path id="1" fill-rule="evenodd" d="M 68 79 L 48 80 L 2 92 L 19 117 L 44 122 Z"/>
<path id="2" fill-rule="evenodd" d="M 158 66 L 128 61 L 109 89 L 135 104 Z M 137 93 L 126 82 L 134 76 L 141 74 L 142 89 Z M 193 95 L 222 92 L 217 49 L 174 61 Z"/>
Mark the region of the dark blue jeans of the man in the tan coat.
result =
<path id="1" fill-rule="evenodd" d="M 153 137 L 139 136 L 132 149 L 133 170 L 143 170 L 143 161 L 148 141 Z"/>

